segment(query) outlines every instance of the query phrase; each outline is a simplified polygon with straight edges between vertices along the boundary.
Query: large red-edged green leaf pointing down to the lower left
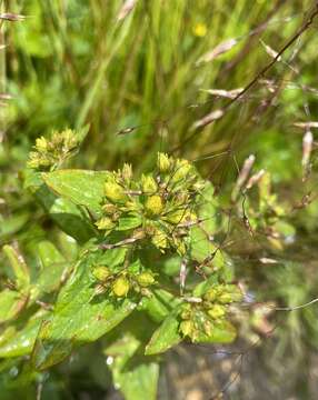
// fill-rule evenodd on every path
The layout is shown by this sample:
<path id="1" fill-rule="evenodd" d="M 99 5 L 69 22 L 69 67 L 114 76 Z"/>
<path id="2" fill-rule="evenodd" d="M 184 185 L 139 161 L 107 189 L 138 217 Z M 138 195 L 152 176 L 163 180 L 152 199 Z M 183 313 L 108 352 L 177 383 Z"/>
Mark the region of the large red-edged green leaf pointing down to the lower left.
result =
<path id="1" fill-rule="evenodd" d="M 109 252 L 116 252 L 113 250 Z M 49 368 L 74 348 L 99 339 L 136 308 L 129 299 L 115 301 L 107 294 L 95 296 L 90 269 L 98 263 L 98 258 L 99 254 L 93 253 L 79 262 L 61 290 L 52 316 L 43 321 L 32 354 L 37 369 Z"/>

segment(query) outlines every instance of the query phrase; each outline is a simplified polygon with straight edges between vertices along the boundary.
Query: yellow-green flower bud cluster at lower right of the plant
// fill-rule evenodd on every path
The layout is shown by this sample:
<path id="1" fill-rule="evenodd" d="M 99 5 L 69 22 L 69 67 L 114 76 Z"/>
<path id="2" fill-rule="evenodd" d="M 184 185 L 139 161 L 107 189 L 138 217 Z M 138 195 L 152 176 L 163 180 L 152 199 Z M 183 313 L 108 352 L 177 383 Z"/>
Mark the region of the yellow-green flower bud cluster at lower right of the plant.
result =
<path id="1" fill-rule="evenodd" d="M 233 284 L 216 284 L 201 298 L 200 302 L 186 303 L 180 313 L 179 331 L 182 336 L 198 341 L 210 337 L 213 326 L 227 318 L 229 304 L 241 299 L 240 290 Z"/>

